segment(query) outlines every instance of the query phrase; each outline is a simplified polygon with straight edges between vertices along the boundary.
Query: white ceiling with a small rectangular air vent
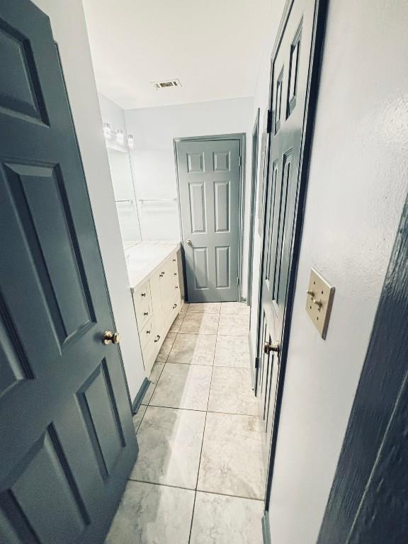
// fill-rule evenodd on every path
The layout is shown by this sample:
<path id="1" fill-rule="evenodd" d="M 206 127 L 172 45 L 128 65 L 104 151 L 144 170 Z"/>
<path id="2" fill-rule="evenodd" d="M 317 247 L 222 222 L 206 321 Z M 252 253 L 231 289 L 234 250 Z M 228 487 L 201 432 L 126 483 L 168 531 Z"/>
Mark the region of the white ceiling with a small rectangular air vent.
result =
<path id="1" fill-rule="evenodd" d="M 98 91 L 125 109 L 254 96 L 271 0 L 84 0 Z M 152 81 L 182 87 L 156 91 Z"/>

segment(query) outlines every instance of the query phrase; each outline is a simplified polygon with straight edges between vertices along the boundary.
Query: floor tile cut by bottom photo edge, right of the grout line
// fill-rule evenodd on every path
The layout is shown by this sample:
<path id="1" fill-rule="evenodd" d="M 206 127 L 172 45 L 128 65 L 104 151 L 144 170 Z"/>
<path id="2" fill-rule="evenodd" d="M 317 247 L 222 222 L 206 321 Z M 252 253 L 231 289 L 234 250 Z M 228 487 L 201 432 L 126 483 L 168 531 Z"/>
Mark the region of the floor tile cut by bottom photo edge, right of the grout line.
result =
<path id="1" fill-rule="evenodd" d="M 197 492 L 191 544 L 262 544 L 263 502 Z"/>

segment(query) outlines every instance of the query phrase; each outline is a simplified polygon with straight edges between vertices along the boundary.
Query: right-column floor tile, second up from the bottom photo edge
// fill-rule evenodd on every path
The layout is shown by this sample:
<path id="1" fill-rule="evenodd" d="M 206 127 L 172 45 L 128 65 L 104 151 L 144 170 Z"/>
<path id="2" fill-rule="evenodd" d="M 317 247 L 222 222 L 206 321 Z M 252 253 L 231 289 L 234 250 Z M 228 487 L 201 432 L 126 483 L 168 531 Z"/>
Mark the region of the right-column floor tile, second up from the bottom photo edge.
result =
<path id="1" fill-rule="evenodd" d="M 263 499 L 263 441 L 261 418 L 208 412 L 197 489 Z"/>

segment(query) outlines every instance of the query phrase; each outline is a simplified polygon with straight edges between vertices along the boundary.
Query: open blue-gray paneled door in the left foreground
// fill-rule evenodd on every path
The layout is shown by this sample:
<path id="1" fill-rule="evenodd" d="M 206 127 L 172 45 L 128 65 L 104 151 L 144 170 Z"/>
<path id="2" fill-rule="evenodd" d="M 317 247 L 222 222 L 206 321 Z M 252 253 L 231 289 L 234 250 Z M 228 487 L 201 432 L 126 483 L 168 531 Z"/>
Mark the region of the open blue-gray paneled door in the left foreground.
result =
<path id="1" fill-rule="evenodd" d="M 0 1 L 0 58 L 0 542 L 101 543 L 137 443 L 57 47 L 30 1 Z"/>

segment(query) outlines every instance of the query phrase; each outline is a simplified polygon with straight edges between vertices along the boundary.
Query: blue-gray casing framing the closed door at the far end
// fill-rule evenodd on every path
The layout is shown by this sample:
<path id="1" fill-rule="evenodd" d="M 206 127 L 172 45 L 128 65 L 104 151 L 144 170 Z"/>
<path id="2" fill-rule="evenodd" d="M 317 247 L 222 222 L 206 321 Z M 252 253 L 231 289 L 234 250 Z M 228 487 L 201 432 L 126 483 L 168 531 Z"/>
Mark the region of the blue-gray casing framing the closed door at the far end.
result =
<path id="1" fill-rule="evenodd" d="M 244 213 L 245 213 L 245 166 L 246 166 L 246 152 L 245 152 L 245 133 L 238 132 L 235 134 L 217 134 L 208 136 L 192 136 L 192 137 L 178 137 L 173 140 L 174 149 L 174 164 L 176 168 L 176 181 L 177 181 L 177 201 L 179 210 L 179 224 L 180 224 L 180 239 L 183 241 L 183 222 L 181 220 L 181 208 L 180 208 L 180 179 L 179 179 L 179 164 L 177 161 L 177 142 L 197 142 L 200 140 L 239 140 L 239 154 L 242 158 L 239 169 L 239 235 L 238 235 L 238 300 L 244 302 L 242 298 L 242 268 L 244 262 L 243 241 L 244 241 Z M 183 255 L 183 280 L 184 280 L 184 292 L 187 292 L 186 284 L 186 259 L 183 254 L 183 244 L 181 244 L 181 253 Z"/>

